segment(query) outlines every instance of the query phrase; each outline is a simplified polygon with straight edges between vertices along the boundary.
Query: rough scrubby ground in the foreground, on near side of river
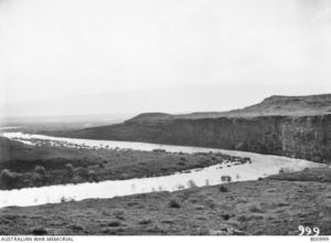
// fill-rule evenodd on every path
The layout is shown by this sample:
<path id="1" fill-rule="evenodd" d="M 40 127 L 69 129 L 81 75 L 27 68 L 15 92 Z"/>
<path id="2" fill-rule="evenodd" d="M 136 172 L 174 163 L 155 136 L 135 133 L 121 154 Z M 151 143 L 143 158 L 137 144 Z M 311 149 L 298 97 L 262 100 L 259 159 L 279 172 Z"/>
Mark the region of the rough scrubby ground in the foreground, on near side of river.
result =
<path id="1" fill-rule="evenodd" d="M 305 180 L 302 180 L 305 178 Z M 0 234 L 331 234 L 331 169 L 258 181 L 0 209 Z"/>

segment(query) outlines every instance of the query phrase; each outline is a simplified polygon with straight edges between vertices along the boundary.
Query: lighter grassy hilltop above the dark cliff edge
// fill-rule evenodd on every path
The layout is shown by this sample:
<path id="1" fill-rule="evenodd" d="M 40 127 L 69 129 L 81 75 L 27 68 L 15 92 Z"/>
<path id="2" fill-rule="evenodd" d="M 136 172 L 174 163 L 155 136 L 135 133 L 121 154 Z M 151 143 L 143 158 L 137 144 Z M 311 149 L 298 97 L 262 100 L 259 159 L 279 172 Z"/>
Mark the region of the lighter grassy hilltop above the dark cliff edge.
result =
<path id="1" fill-rule="evenodd" d="M 257 116 L 307 116 L 331 113 L 331 94 L 310 96 L 274 95 L 261 103 L 229 112 L 191 113 L 170 115 L 164 113 L 140 114 L 127 123 L 157 122 L 169 119 L 202 119 L 217 117 L 257 117 Z"/>

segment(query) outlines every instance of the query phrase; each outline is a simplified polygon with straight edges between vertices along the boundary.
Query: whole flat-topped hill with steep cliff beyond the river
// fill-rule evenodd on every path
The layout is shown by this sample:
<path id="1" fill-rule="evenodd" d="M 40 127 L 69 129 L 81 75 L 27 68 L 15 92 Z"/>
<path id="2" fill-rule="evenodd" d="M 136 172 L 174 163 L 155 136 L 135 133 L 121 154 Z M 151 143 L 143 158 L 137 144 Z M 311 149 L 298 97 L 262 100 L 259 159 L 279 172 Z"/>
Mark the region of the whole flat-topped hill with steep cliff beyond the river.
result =
<path id="1" fill-rule="evenodd" d="M 271 96 L 227 113 L 141 114 L 55 136 L 215 147 L 331 163 L 331 95 Z"/>

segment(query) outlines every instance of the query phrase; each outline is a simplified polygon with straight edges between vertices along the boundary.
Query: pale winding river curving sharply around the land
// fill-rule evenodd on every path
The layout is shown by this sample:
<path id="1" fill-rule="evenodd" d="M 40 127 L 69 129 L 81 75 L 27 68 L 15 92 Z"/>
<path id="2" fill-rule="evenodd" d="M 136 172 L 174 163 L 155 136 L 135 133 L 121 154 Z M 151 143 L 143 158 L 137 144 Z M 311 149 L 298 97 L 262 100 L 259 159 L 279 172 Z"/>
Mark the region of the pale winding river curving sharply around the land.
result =
<path id="1" fill-rule="evenodd" d="M 222 163 L 163 177 L 26 188 L 20 190 L 0 190 L 0 208 L 8 205 L 26 207 L 44 203 L 58 203 L 63 200 L 79 201 L 92 198 L 106 199 L 152 191 L 177 191 L 192 186 L 202 187 L 223 183 L 221 180 L 222 176 L 232 177 L 232 181 L 245 181 L 257 180 L 258 178 L 276 175 L 281 168 L 289 171 L 298 171 L 305 168 L 324 167 L 323 165 L 302 159 L 202 147 L 60 138 L 23 133 L 2 133 L 1 136 L 12 140 L 22 141 L 30 146 L 35 146 L 39 142 L 47 142 L 52 146 L 84 147 L 92 149 L 135 149 L 145 151 L 164 149 L 169 152 L 188 154 L 212 151 L 227 154 L 229 156 L 249 157 L 252 163 L 247 162 L 229 167 Z"/>

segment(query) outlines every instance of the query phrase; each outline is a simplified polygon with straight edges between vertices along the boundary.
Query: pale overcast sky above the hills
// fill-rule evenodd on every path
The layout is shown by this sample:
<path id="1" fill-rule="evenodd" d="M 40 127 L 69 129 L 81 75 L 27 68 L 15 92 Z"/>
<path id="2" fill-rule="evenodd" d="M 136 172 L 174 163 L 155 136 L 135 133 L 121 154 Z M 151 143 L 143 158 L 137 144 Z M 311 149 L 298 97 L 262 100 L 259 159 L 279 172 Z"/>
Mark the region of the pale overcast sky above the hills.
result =
<path id="1" fill-rule="evenodd" d="M 139 106 L 127 95 L 124 112 L 239 105 L 231 96 L 211 98 L 211 88 L 204 91 L 210 86 L 239 91 L 234 97 L 241 105 L 255 101 L 255 88 L 260 91 L 256 99 L 274 89 L 278 95 L 331 93 L 330 2 L 0 0 L 0 112 L 44 115 L 33 107 L 24 112 L 22 104 L 52 99 L 58 113 L 70 106 L 67 114 L 84 114 L 90 110 L 62 97 L 109 93 L 120 99 L 136 93 L 143 98 L 148 91 L 156 92 L 152 105 Z M 158 101 L 164 88 L 188 94 L 177 92 L 167 107 Z"/>

